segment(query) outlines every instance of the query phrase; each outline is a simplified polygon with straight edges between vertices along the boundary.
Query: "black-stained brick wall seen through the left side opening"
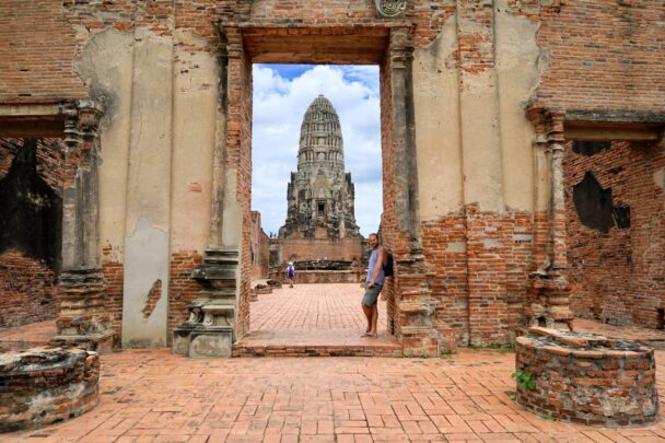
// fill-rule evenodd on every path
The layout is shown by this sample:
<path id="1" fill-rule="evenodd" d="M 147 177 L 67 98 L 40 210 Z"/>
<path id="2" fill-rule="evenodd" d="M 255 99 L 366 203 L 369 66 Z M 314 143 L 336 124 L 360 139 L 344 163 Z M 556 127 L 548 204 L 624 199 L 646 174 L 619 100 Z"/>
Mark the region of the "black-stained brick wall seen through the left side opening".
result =
<path id="1" fill-rule="evenodd" d="M 0 326 L 55 318 L 60 272 L 59 139 L 0 139 Z"/>

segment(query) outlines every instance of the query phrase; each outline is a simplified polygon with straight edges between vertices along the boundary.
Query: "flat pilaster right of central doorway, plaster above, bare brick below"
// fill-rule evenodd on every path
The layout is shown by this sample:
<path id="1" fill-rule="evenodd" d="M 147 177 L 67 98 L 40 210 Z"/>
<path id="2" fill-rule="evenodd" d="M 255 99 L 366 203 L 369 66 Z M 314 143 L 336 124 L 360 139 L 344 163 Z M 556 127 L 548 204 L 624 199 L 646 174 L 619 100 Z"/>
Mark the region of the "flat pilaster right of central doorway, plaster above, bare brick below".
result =
<path id="1" fill-rule="evenodd" d="M 469 342 L 479 346 L 510 341 L 510 244 L 502 233 L 511 215 L 503 183 L 494 3 L 456 2 L 468 333 Z"/>

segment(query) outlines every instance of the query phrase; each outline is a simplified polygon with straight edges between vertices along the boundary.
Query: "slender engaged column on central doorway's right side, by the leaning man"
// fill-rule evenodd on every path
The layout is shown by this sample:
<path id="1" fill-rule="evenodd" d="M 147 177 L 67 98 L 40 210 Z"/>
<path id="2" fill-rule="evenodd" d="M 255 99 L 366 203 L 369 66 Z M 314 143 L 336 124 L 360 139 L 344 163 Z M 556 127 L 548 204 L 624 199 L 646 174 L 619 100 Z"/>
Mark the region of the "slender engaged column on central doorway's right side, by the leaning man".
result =
<path id="1" fill-rule="evenodd" d="M 409 28 L 392 28 L 388 59 L 390 88 L 390 139 L 394 155 L 394 186 L 396 232 L 392 243 L 395 254 L 393 295 L 398 322 L 395 334 L 407 355 L 439 355 L 436 305 L 430 280 L 433 273 L 424 267 L 418 211 L 418 170 L 412 92 L 412 42 Z M 385 155 L 385 153 L 384 153 Z M 385 178 L 384 178 L 385 179 Z M 389 231 L 389 230 L 388 230 Z"/>

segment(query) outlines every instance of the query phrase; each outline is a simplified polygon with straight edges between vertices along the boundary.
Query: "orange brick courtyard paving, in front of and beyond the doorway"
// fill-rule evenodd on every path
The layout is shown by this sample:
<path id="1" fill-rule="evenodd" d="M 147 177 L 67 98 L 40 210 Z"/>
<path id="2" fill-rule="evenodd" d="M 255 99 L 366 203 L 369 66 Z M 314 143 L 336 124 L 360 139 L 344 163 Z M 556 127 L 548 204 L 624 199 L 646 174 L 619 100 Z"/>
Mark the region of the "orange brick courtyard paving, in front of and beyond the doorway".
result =
<path id="1" fill-rule="evenodd" d="M 359 285 L 298 285 L 252 304 L 252 340 L 361 343 Z M 584 330 L 658 342 L 662 331 L 579 320 Z M 378 340 L 389 342 L 385 317 Z M 0 342 L 38 342 L 51 325 L 2 329 Z M 310 337 L 310 340 L 306 338 Z M 343 338 L 346 337 L 346 338 Z M 354 341 L 358 340 L 358 341 Z M 373 339 L 376 340 L 376 339 Z M 290 346 L 294 346 L 290 343 Z M 656 351 L 658 362 L 665 354 Z M 664 365 L 657 383 L 665 393 Z M 167 349 L 102 357 L 101 403 L 71 421 L 3 434 L 2 442 L 657 442 L 638 429 L 574 425 L 525 412 L 512 397 L 514 353 L 462 349 L 442 359 L 189 360 Z M 662 401 L 663 403 L 663 401 Z M 663 407 L 663 406 L 662 406 Z"/>

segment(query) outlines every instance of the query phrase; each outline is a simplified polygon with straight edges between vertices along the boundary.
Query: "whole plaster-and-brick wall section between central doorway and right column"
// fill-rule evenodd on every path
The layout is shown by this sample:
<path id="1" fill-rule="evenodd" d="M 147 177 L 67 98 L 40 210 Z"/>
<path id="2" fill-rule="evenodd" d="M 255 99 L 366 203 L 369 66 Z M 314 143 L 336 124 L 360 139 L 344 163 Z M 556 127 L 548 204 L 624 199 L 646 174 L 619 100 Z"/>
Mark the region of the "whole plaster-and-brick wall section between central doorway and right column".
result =
<path id="1" fill-rule="evenodd" d="M 504 342 L 523 324 L 540 205 L 524 113 L 546 67 L 538 23 L 477 3 L 457 2 L 413 63 L 422 241 L 438 328 L 458 343 Z"/>

